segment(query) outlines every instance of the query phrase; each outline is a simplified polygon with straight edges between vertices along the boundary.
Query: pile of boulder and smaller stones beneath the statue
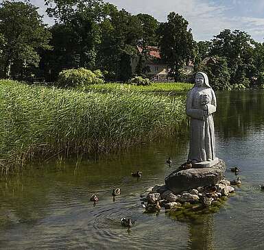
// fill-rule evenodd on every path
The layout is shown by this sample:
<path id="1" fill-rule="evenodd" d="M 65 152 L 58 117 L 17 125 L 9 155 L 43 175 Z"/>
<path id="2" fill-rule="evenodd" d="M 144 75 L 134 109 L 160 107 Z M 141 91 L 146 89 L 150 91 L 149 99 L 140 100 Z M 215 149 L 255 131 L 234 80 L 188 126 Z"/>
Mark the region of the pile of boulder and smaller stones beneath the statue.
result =
<path id="1" fill-rule="evenodd" d="M 182 208 L 182 205 L 200 203 L 209 206 L 221 197 L 228 197 L 235 188 L 224 179 L 226 165 L 223 161 L 211 168 L 191 168 L 174 171 L 165 179 L 165 185 L 156 185 L 142 201 L 147 211 Z M 155 209 L 153 209 L 155 208 Z"/>

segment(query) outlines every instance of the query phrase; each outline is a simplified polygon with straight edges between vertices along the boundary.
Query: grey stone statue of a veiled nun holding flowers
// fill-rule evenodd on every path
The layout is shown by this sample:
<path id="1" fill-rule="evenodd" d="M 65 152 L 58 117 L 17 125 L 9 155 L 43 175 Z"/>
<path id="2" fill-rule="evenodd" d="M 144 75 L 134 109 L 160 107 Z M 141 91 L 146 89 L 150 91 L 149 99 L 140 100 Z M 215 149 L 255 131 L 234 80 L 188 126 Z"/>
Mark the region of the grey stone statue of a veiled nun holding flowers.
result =
<path id="1" fill-rule="evenodd" d="M 187 115 L 191 117 L 188 160 L 193 164 L 218 162 L 215 157 L 215 127 L 212 115 L 216 111 L 216 105 L 215 92 L 209 85 L 207 75 L 198 72 L 195 75 L 195 86 L 189 91 L 186 103 Z M 208 164 L 200 167 L 207 166 Z"/>

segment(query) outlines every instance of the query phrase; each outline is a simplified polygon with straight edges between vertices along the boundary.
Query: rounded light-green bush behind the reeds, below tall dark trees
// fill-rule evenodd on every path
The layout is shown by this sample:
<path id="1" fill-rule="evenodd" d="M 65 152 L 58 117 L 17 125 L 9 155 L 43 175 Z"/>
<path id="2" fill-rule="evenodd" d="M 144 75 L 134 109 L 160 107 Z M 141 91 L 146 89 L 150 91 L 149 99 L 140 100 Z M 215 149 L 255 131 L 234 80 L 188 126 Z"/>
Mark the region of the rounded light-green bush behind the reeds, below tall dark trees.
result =
<path id="1" fill-rule="evenodd" d="M 74 88 L 89 84 L 104 84 L 103 77 L 99 69 L 91 71 L 86 68 L 72 68 L 60 72 L 58 86 Z"/>

